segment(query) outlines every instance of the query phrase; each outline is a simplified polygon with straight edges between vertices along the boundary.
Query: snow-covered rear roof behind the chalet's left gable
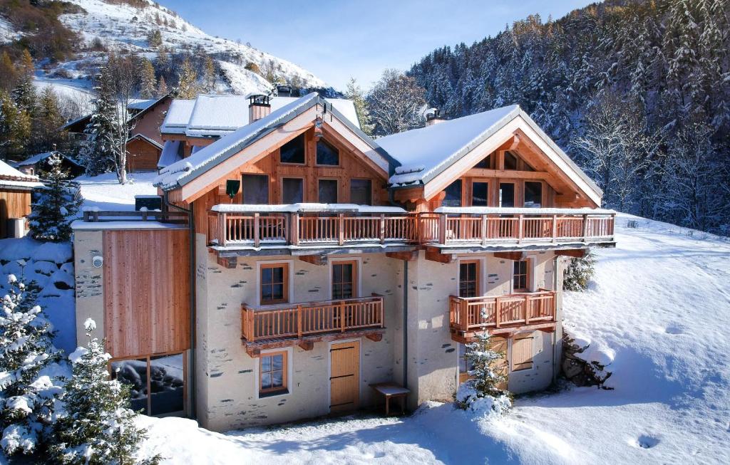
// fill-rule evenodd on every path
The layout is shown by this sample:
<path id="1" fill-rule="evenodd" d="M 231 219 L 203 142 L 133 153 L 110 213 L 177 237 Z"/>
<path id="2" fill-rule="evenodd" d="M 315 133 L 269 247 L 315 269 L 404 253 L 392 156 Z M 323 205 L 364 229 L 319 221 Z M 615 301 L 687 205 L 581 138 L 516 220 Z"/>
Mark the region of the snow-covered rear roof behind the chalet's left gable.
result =
<path id="1" fill-rule="evenodd" d="M 195 100 L 174 100 L 162 123 L 161 132 L 190 137 L 220 137 L 249 123 L 250 95 L 198 95 Z M 269 101 L 272 112 L 287 106 L 299 97 L 274 96 Z M 178 103 L 180 102 L 180 103 Z M 355 104 L 344 98 L 328 98 L 334 109 L 360 128 Z"/>

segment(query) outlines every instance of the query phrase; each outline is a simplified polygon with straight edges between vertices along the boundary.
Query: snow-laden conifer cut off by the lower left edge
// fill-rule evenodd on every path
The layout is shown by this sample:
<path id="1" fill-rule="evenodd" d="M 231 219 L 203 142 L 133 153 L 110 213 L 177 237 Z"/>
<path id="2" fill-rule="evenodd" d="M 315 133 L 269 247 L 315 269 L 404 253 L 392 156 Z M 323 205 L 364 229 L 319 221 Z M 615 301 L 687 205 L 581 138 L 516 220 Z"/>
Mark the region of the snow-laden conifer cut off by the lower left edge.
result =
<path id="1" fill-rule="evenodd" d="M 42 452 L 49 443 L 53 405 L 61 388 L 39 372 L 59 358 L 53 332 L 36 305 L 38 289 L 8 278 L 0 313 L 0 445 L 5 453 Z"/>

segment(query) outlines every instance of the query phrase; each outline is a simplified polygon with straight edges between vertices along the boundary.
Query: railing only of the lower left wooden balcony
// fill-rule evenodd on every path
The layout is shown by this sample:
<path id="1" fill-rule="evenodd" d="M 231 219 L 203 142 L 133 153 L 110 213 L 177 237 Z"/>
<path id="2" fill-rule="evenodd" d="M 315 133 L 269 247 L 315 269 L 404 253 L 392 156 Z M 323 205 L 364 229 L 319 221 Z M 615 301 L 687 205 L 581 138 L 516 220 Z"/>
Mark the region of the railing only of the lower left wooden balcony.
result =
<path id="1" fill-rule="evenodd" d="M 383 297 L 361 297 L 261 308 L 243 304 L 241 329 L 247 342 L 255 342 L 382 328 L 384 321 Z"/>

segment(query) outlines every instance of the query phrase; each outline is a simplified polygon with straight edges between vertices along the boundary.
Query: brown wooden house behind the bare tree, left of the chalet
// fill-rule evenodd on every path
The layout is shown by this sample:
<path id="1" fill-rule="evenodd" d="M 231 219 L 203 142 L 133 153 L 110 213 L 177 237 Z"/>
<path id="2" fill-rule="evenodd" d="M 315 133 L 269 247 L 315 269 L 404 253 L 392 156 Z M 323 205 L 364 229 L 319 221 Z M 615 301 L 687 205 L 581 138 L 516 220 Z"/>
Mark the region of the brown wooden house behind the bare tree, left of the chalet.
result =
<path id="1" fill-rule="evenodd" d="M 130 134 L 127 139 L 127 171 L 155 171 L 162 153 L 160 126 L 169 109 L 172 97 L 168 94 L 155 100 L 135 99 L 127 106 Z M 85 137 L 91 114 L 66 123 L 62 130 Z"/>

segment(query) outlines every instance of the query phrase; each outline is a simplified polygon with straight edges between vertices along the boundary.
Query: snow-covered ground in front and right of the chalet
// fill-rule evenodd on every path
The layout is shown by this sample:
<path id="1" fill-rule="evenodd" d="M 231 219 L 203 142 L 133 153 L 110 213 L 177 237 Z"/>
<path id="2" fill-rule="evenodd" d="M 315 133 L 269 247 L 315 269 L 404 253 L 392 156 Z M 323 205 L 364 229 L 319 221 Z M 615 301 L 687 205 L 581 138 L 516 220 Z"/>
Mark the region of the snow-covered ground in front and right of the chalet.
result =
<path id="1" fill-rule="evenodd" d="M 728 464 L 730 242 L 617 219 L 595 281 L 568 293 L 568 330 L 615 353 L 610 386 L 517 399 L 489 423 L 429 403 L 411 417 L 345 418 L 216 434 L 148 418 L 166 463 Z"/>

